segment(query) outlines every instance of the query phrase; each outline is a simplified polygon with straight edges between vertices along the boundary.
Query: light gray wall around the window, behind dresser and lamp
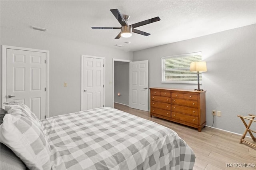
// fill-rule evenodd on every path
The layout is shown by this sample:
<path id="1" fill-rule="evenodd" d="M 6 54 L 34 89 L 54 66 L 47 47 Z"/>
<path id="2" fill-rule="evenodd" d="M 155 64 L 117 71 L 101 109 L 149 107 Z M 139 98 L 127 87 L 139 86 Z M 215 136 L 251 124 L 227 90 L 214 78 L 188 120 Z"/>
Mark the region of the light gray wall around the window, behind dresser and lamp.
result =
<path id="1" fill-rule="evenodd" d="M 200 85 L 207 91 L 206 125 L 212 126 L 212 110 L 221 111 L 214 127 L 243 134 L 237 115 L 256 114 L 256 24 L 135 51 L 134 61 L 148 59 L 149 87 L 194 89 L 196 84 L 161 83 L 161 57 L 197 51 L 208 69 Z"/>

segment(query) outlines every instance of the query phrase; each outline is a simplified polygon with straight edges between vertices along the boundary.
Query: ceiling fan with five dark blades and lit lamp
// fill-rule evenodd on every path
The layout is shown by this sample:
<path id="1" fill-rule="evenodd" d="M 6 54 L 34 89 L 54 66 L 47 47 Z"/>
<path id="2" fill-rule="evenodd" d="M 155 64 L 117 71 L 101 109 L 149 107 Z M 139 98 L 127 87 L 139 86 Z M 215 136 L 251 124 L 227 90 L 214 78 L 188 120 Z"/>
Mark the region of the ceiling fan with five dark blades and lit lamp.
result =
<path id="1" fill-rule="evenodd" d="M 125 38 L 128 38 L 128 37 L 132 36 L 132 32 L 137 33 L 137 34 L 141 34 L 143 36 L 149 36 L 150 35 L 149 33 L 137 30 L 135 28 L 140 27 L 140 26 L 144 26 L 146 24 L 150 24 L 150 23 L 153 23 L 153 22 L 160 21 L 160 18 L 157 16 L 157 17 L 151 18 L 149 20 L 145 20 L 145 21 L 142 21 L 142 22 L 137 22 L 135 24 L 128 25 L 127 21 L 130 18 L 130 16 L 128 16 L 128 15 L 122 16 L 118 9 L 112 9 L 110 11 L 116 17 L 118 22 L 121 24 L 121 27 L 92 27 L 92 29 L 120 29 L 121 32 L 116 36 L 115 39 L 119 39 L 119 38 L 121 38 L 121 36 L 125 37 Z"/>

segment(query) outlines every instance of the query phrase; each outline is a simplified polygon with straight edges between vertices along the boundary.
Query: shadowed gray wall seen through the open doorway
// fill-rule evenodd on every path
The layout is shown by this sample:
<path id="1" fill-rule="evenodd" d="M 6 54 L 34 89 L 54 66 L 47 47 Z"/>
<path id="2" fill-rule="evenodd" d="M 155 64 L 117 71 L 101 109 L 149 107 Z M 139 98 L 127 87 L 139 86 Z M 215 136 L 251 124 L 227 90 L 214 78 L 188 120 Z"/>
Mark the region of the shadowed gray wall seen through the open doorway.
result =
<path id="1" fill-rule="evenodd" d="M 117 94 L 120 93 L 120 96 Z M 114 102 L 129 105 L 129 63 L 114 61 Z"/>

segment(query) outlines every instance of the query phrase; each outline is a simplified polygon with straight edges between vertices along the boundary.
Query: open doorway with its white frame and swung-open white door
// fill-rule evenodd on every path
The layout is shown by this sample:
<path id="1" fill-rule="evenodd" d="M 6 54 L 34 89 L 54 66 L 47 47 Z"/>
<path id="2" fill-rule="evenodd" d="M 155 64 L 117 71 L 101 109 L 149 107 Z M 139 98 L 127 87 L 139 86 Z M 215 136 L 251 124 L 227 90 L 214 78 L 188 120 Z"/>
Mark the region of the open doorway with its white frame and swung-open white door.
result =
<path id="1" fill-rule="evenodd" d="M 115 62 L 119 61 L 116 65 L 121 65 L 118 70 L 115 70 Z M 122 67 L 122 65 L 128 64 L 128 69 Z M 116 78 L 120 74 L 119 78 Z M 127 78 L 125 78 L 127 77 Z M 148 111 L 148 60 L 145 61 L 129 61 L 122 59 L 113 59 L 113 108 L 114 103 L 124 103 L 118 101 L 128 100 L 128 106 L 134 109 Z M 118 79 L 116 81 L 116 79 Z M 123 81 L 128 83 L 123 83 Z M 116 86 L 115 86 L 116 82 Z M 128 96 L 126 97 L 126 91 L 121 92 L 118 88 L 119 84 L 128 88 Z M 127 87 L 128 86 L 128 87 Z M 124 97 L 123 97 L 124 94 Z M 121 100 L 122 99 L 122 100 Z"/>

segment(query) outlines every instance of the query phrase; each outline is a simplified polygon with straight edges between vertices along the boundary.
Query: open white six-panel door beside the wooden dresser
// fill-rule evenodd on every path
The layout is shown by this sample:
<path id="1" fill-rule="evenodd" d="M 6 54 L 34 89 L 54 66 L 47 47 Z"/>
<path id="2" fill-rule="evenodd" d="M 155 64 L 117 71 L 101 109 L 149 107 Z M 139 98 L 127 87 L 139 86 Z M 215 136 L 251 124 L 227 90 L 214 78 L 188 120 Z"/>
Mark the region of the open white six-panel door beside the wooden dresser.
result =
<path id="1" fill-rule="evenodd" d="M 148 111 L 148 60 L 130 62 L 130 107 Z"/>

